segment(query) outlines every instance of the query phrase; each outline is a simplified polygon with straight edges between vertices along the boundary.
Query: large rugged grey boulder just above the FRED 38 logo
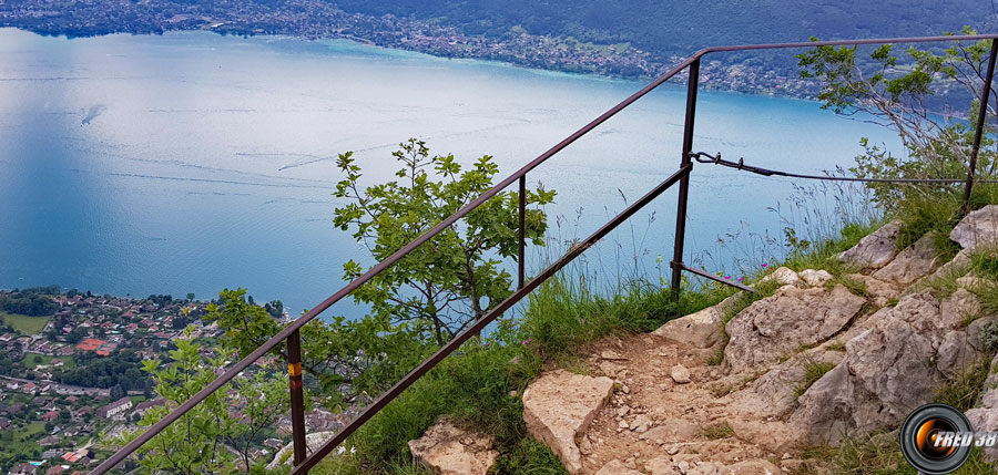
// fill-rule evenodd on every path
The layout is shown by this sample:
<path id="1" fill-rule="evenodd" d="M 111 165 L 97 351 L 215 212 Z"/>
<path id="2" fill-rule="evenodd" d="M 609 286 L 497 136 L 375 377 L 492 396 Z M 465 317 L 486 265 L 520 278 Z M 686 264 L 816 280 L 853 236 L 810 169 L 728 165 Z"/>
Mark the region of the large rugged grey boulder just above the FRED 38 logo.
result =
<path id="1" fill-rule="evenodd" d="M 846 343 L 843 362 L 798 399 L 788 423 L 808 443 L 834 444 L 846 432 L 896 426 L 912 407 L 928 402 L 943 380 L 933 357 L 960 326 L 955 309 L 968 304 L 958 293 L 941 304 L 916 293 L 878 311 L 873 327 Z"/>

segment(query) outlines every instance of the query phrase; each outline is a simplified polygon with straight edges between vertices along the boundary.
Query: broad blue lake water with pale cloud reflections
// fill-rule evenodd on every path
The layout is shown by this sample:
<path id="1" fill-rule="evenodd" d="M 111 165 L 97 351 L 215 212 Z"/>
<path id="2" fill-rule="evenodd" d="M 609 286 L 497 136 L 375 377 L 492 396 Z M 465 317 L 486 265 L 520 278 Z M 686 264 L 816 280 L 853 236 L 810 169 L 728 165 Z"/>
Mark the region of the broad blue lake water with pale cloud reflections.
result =
<path id="1" fill-rule="evenodd" d="M 332 225 L 336 154 L 355 151 L 374 183 L 396 169 L 399 142 L 420 137 L 462 163 L 493 155 L 505 176 L 642 85 L 342 41 L 0 29 L 0 288 L 211 298 L 246 287 L 297 312 L 364 257 Z M 675 171 L 684 95 L 661 87 L 531 174 L 558 192 L 552 236 L 588 235 L 623 207 L 621 193 L 634 199 Z M 814 102 L 700 99 L 694 148 L 754 165 L 848 165 L 860 136 L 897 148 L 888 131 Z M 790 180 L 703 165 L 692 184 L 691 258 L 742 221 L 780 235 L 767 208 Z M 646 209 L 591 267 L 612 275 L 634 248 L 652 272 L 658 255 L 669 260 L 675 193 Z M 531 251 L 528 267 L 541 260 Z"/>

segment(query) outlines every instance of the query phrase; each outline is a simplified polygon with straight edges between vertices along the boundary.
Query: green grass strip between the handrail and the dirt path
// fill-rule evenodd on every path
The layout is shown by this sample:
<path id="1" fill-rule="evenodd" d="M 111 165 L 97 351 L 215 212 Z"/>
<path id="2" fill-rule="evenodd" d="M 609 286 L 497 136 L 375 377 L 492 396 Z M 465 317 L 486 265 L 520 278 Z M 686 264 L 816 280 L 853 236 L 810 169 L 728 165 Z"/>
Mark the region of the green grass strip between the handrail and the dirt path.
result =
<path id="1" fill-rule="evenodd" d="M 602 297 L 557 276 L 529 297 L 521 318 L 503 320 L 487 338 L 472 340 L 447 358 L 348 438 L 348 457 L 329 457 L 313 473 L 414 474 L 408 441 L 440 415 L 496 437 L 498 474 L 563 474 L 550 450 L 527 434 L 519 397 L 544 368 L 578 368 L 597 340 L 646 332 L 719 302 L 722 291 L 684 292 L 679 303 L 668 289 L 645 282 Z M 584 364 L 582 364 L 584 366 Z"/>

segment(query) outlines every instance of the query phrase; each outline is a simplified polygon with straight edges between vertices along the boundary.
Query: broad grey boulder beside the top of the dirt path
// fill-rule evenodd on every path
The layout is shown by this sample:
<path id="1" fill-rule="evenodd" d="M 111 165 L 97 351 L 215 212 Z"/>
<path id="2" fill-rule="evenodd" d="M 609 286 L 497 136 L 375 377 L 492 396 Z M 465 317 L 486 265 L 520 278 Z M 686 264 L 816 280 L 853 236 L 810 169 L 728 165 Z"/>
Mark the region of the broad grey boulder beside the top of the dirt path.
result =
<path id="1" fill-rule="evenodd" d="M 727 323 L 731 340 L 724 360 L 734 372 L 773 365 L 802 345 L 827 340 L 848 324 L 865 302 L 843 286 L 832 291 L 781 288 Z"/>

